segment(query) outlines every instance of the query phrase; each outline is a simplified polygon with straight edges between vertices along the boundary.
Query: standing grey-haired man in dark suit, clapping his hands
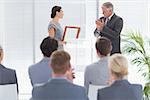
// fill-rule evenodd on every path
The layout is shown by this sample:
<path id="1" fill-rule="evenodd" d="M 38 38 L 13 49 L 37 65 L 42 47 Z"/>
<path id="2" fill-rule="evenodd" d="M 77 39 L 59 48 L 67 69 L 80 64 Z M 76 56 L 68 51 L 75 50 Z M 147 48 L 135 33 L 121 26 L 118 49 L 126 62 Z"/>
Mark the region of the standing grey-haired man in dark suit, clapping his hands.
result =
<path id="1" fill-rule="evenodd" d="M 121 53 L 120 33 L 123 28 L 123 19 L 117 16 L 113 9 L 113 4 L 110 2 L 106 2 L 102 5 L 104 17 L 96 21 L 96 29 L 94 31 L 96 37 L 104 36 L 111 40 L 111 55 L 114 53 Z"/>

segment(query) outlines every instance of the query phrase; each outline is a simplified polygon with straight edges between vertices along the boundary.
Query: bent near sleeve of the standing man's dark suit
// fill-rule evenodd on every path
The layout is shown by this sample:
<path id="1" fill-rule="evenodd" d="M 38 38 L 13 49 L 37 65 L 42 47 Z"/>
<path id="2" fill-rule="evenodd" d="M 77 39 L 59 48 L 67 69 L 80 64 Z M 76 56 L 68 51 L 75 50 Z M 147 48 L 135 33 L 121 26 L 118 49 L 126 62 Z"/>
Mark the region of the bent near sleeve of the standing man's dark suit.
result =
<path id="1" fill-rule="evenodd" d="M 118 18 L 116 20 L 114 29 L 110 29 L 108 26 L 104 26 L 103 30 L 101 31 L 101 35 L 105 36 L 105 37 L 111 37 L 116 39 L 116 37 L 120 36 L 120 32 L 122 30 L 123 27 L 123 19 L 122 18 Z"/>

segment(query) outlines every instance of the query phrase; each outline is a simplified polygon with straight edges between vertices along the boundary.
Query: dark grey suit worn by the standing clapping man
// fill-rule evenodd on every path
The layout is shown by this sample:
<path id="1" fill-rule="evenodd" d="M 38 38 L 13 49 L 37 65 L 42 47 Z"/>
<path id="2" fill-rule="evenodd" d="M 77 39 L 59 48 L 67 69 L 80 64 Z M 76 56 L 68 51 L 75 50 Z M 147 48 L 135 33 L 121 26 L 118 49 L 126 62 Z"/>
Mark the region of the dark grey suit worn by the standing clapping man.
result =
<path id="1" fill-rule="evenodd" d="M 101 17 L 100 19 L 106 20 L 106 18 Z M 114 14 L 107 24 L 104 26 L 103 30 L 99 32 L 97 29 L 94 31 L 95 36 L 104 36 L 111 40 L 112 51 L 111 54 L 121 53 L 120 50 L 120 33 L 123 27 L 123 19 L 116 14 Z"/>

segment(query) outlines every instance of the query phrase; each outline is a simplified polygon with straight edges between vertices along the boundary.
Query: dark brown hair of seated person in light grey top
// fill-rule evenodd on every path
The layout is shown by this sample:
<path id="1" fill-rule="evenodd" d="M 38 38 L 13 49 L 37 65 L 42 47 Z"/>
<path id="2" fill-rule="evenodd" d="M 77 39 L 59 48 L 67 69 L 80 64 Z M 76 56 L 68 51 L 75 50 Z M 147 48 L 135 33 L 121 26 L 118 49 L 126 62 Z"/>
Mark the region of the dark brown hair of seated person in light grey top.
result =
<path id="1" fill-rule="evenodd" d="M 104 56 L 107 56 L 112 49 L 111 41 L 106 37 L 98 38 L 95 43 L 95 47 L 97 51 Z"/>

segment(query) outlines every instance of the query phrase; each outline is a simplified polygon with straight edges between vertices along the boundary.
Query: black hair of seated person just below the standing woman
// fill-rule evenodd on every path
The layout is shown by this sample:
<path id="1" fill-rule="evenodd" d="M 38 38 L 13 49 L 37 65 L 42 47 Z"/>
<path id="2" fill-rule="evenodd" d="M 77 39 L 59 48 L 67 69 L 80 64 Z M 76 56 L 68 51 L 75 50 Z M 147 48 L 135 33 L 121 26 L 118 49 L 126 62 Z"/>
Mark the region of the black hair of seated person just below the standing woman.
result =
<path id="1" fill-rule="evenodd" d="M 43 55 L 46 57 L 50 57 L 51 54 L 55 50 L 57 50 L 57 48 L 58 48 L 58 42 L 55 39 L 50 38 L 49 36 L 44 38 L 40 45 L 40 49 Z"/>

